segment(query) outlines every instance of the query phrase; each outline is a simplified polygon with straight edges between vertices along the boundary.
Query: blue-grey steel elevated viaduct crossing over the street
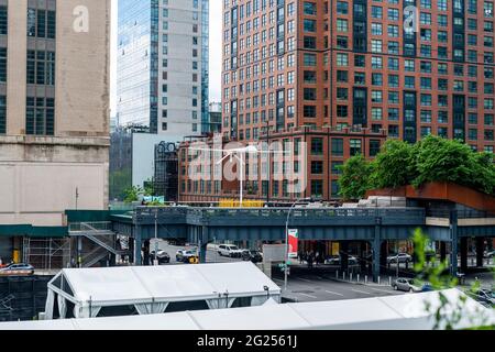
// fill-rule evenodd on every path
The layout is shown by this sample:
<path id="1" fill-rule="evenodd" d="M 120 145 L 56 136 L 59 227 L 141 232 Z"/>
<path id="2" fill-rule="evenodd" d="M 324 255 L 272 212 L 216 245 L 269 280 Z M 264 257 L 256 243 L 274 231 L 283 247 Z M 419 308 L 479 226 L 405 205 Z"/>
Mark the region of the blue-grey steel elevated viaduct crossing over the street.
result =
<path id="1" fill-rule="evenodd" d="M 141 263 L 143 242 L 155 238 L 185 239 L 200 248 L 205 260 L 211 242 L 223 241 L 285 241 L 288 208 L 138 208 L 132 217 L 112 217 L 113 231 L 134 240 L 134 263 Z M 288 228 L 298 229 L 299 241 L 367 242 L 373 255 L 373 276 L 380 275 L 386 241 L 410 240 L 416 229 L 424 230 L 431 241 L 441 243 L 441 257 L 450 246 L 453 275 L 466 256 L 465 240 L 495 235 L 495 219 L 427 218 L 422 208 L 324 208 L 296 209 L 288 219 Z M 481 244 L 477 255 L 480 256 Z"/>

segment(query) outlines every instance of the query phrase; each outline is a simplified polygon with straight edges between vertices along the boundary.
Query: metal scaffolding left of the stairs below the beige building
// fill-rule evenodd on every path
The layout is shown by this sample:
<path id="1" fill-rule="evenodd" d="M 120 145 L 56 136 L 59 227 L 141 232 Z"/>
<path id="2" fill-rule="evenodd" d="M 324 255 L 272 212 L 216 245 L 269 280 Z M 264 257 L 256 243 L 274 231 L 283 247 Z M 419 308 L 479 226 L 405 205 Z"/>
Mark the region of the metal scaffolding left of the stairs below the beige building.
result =
<path id="1" fill-rule="evenodd" d="M 70 264 L 70 239 L 24 238 L 24 262 L 34 266 L 36 272 L 47 272 L 67 267 Z"/>

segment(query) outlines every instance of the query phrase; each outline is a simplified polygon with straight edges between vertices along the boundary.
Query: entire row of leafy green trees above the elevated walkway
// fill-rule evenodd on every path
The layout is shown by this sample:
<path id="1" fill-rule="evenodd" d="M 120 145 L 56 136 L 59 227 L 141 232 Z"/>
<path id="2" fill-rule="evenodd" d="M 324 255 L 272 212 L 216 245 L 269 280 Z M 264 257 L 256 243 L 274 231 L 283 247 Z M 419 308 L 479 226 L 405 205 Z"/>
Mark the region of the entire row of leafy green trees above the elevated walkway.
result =
<path id="1" fill-rule="evenodd" d="M 341 178 L 345 199 L 362 198 L 370 189 L 419 187 L 430 182 L 451 182 L 495 196 L 493 154 L 473 152 L 460 141 L 433 135 L 414 145 L 387 141 L 373 162 L 362 156 L 350 158 Z"/>

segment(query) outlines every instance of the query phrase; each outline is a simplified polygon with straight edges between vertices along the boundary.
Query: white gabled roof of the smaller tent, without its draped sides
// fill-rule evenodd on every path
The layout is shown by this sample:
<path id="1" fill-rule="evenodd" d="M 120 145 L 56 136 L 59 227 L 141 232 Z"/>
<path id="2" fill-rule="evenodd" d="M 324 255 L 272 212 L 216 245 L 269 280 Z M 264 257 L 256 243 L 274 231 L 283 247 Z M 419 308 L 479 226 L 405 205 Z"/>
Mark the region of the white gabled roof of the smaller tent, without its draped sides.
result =
<path id="1" fill-rule="evenodd" d="M 109 306 L 124 302 L 180 301 L 229 297 L 279 295 L 280 288 L 251 262 L 65 268 L 58 276 L 69 285 L 76 301 Z"/>

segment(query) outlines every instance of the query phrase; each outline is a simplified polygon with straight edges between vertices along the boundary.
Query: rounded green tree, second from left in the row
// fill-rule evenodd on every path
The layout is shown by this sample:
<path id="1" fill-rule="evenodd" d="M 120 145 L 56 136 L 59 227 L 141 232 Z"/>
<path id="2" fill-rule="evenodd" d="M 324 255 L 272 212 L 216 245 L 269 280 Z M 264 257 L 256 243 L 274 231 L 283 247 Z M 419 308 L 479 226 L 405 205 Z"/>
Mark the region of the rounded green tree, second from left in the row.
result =
<path id="1" fill-rule="evenodd" d="M 414 147 L 403 141 L 388 140 L 373 162 L 371 187 L 397 188 L 409 185 L 415 178 Z"/>

